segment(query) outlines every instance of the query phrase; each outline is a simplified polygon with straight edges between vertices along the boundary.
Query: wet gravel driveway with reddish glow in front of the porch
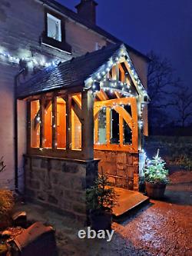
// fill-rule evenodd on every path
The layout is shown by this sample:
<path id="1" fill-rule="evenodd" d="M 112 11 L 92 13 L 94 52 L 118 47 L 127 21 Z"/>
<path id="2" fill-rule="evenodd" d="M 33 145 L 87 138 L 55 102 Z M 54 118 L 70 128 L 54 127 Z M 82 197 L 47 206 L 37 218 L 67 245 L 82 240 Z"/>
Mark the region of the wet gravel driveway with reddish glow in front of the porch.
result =
<path id="1" fill-rule="evenodd" d="M 151 200 L 121 223 L 113 224 L 111 242 L 79 239 L 82 227 L 40 206 L 26 204 L 21 210 L 28 212 L 28 219 L 55 227 L 59 256 L 192 256 L 192 171 L 175 171 L 170 180 L 164 201 Z"/>

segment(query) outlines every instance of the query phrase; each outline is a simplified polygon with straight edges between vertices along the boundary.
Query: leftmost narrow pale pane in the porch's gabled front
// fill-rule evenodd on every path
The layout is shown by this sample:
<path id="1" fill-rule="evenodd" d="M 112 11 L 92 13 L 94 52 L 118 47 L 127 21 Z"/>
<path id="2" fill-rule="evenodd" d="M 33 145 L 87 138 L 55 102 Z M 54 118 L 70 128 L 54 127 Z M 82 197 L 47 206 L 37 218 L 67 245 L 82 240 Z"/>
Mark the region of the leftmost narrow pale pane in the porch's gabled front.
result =
<path id="1" fill-rule="evenodd" d="M 102 108 L 98 113 L 98 143 L 106 144 L 106 108 Z"/>

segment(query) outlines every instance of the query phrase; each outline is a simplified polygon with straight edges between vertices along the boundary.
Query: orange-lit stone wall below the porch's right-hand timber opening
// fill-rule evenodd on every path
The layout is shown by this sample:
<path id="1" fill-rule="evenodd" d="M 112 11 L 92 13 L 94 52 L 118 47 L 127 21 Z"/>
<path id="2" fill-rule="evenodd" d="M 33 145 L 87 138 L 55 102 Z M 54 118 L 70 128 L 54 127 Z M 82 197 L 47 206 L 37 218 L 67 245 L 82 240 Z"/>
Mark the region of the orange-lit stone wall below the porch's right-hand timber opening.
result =
<path id="1" fill-rule="evenodd" d="M 98 168 L 108 176 L 111 185 L 138 190 L 139 183 L 139 157 L 121 151 L 94 150 L 94 158 L 99 158 Z"/>

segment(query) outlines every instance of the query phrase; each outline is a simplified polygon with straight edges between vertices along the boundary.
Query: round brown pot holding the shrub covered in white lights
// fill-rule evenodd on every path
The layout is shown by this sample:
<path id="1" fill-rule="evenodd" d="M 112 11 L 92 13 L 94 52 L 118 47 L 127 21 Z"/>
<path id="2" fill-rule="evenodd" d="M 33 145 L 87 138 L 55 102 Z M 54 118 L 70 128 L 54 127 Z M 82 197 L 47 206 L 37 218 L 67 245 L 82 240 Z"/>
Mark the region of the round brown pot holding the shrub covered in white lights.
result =
<path id="1" fill-rule="evenodd" d="M 150 198 L 163 198 L 164 197 L 164 191 L 166 188 L 166 184 L 154 184 L 150 182 L 145 182 L 145 189 L 147 191 L 147 195 Z"/>

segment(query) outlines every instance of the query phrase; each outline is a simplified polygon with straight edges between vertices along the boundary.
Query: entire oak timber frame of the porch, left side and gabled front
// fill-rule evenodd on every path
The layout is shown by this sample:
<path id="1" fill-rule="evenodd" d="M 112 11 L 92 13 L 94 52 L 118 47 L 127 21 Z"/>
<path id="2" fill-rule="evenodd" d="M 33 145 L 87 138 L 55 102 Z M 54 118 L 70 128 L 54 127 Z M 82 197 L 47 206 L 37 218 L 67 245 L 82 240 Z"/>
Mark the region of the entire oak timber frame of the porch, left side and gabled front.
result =
<path id="1" fill-rule="evenodd" d="M 30 123 L 30 104 L 28 104 L 28 154 L 31 155 L 48 155 L 55 157 L 63 158 L 78 158 L 84 160 L 90 160 L 94 158 L 94 149 L 98 150 L 109 150 L 109 151 L 128 151 L 131 153 L 137 153 L 138 149 L 141 148 L 141 129 L 138 128 L 137 121 L 140 118 L 137 115 L 137 111 L 141 108 L 141 98 L 135 97 L 126 97 L 121 98 L 123 93 L 129 93 L 130 85 L 127 84 L 127 78 L 124 71 L 124 67 L 121 65 L 121 62 L 124 62 L 125 67 L 127 68 L 128 73 L 131 72 L 129 66 L 127 65 L 126 59 L 121 58 L 120 63 L 114 65 L 111 68 L 111 79 L 105 79 L 103 81 L 104 86 L 101 86 L 101 91 L 97 93 L 97 98 L 99 101 L 94 101 L 94 94 L 90 89 L 84 89 L 81 86 L 77 88 L 69 88 L 68 90 L 49 92 L 42 96 L 31 96 L 28 100 L 37 100 L 41 101 L 40 115 L 41 115 L 41 140 L 40 148 L 31 148 L 31 123 Z M 107 73 L 106 78 L 110 77 L 110 72 Z M 121 73 L 121 78 L 120 78 Z M 132 78 L 132 75 L 131 75 Z M 121 82 L 119 81 L 121 79 Z M 104 88 L 113 88 L 114 82 L 117 82 L 114 91 L 114 95 L 117 97 L 115 99 L 109 99 L 108 94 L 104 91 Z M 119 83 L 120 82 L 120 83 Z M 124 83 L 122 85 L 122 82 Z M 133 78 L 133 82 L 136 90 L 137 82 Z M 79 94 L 81 93 L 81 97 Z M 66 102 L 66 149 L 57 148 L 57 102 L 55 101 L 56 97 L 61 97 Z M 52 111 L 54 113 L 53 126 L 52 126 L 52 148 L 44 148 L 44 112 L 48 101 L 46 98 L 51 99 Z M 121 105 L 131 105 L 131 115 L 127 113 L 126 110 Z M 106 145 L 94 144 L 95 141 L 98 141 L 98 112 L 102 107 L 106 107 Z M 114 108 L 115 111 L 119 114 L 119 145 L 112 145 L 111 142 L 111 108 Z M 71 148 L 71 136 L 72 136 L 72 123 L 71 123 L 71 110 L 78 116 L 79 121 L 81 121 L 81 150 L 75 150 Z M 132 144 L 124 145 L 124 121 L 131 128 L 132 131 Z M 29 128 L 30 127 L 30 128 Z"/>

